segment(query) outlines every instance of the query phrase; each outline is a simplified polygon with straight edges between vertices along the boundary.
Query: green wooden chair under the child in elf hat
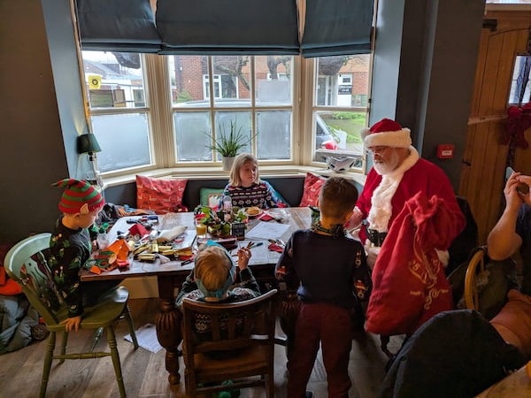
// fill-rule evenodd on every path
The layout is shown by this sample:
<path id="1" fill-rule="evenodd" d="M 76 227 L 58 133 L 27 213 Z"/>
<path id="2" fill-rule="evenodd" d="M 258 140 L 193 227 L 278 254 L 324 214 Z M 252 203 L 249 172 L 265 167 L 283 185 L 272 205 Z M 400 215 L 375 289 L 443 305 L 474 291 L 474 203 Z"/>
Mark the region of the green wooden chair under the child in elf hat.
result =
<path id="1" fill-rule="evenodd" d="M 111 356 L 119 394 L 121 397 L 125 397 L 126 389 L 121 373 L 113 324 L 122 315 L 127 318 L 135 348 L 138 348 L 133 319 L 127 308 L 127 298 L 129 296 L 127 288 L 116 287 L 110 290 L 109 293 L 101 297 L 94 307 L 85 309 L 85 315 L 81 320 L 81 329 L 96 330 L 99 327 L 104 328 L 110 350 L 67 354 L 68 333 L 65 332 L 65 325 L 60 325 L 60 323 L 68 318 L 68 309 L 53 281 L 45 257 L 42 255 L 42 250 L 49 248 L 50 233 L 39 233 L 19 241 L 7 253 L 4 262 L 5 271 L 22 287 L 27 300 L 44 319 L 46 328 L 50 331 L 44 357 L 40 396 L 43 398 L 46 395 L 52 360 L 59 359 L 59 364 L 62 364 L 65 359 L 89 359 Z M 63 341 L 60 354 L 54 355 L 56 333 L 58 332 L 63 333 Z"/>

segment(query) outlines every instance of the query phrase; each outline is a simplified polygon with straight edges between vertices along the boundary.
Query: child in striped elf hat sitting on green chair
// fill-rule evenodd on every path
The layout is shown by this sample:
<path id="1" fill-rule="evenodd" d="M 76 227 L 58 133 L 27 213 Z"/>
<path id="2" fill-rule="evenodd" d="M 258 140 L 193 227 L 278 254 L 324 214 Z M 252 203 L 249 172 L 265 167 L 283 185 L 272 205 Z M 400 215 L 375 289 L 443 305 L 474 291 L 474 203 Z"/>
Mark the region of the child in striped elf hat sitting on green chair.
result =
<path id="1" fill-rule="evenodd" d="M 84 298 L 95 298 L 98 293 L 111 287 L 102 282 L 81 284 L 78 275 L 92 250 L 88 228 L 94 224 L 104 207 L 104 198 L 83 180 L 59 180 L 52 187 L 65 188 L 65 192 L 59 201 L 59 210 L 63 214 L 58 218 L 50 238 L 48 264 L 56 285 L 68 304 L 68 318 L 62 322 L 65 324 L 65 331 L 77 332 L 81 324 Z M 112 286 L 115 284 L 112 282 Z"/>

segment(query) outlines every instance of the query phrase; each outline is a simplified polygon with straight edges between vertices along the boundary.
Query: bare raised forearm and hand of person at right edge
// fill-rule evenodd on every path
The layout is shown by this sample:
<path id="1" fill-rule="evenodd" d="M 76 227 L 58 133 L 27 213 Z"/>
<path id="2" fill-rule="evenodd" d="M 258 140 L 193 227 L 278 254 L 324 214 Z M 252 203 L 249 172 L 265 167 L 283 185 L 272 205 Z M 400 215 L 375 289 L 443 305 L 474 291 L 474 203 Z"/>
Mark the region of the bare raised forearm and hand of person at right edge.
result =
<path id="1" fill-rule="evenodd" d="M 527 179 L 522 179 L 519 172 L 514 172 L 505 183 L 504 213 L 496 223 L 496 226 L 492 228 L 487 238 L 489 257 L 493 260 L 504 260 L 512 256 L 522 244 L 522 238 L 516 233 L 516 220 L 519 207 L 526 199 L 529 200 L 529 194 L 527 194 L 527 197 L 526 195 L 519 194 L 516 188 L 520 181 L 525 182 Z M 531 179 L 529 182 L 531 182 Z"/>

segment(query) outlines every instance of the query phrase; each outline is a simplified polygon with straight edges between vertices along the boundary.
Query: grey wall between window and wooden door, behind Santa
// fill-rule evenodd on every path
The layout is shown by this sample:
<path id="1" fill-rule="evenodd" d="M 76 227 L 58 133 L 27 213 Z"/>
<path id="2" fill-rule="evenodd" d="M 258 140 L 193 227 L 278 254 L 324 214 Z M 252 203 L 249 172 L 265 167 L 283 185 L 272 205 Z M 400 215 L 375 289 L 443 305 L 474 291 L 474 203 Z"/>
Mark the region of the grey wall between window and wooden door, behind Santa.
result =
<path id="1" fill-rule="evenodd" d="M 457 190 L 473 94 L 483 0 L 381 0 L 371 124 L 396 119 L 412 130 L 422 157 Z M 456 147 L 435 157 L 438 144 Z"/>

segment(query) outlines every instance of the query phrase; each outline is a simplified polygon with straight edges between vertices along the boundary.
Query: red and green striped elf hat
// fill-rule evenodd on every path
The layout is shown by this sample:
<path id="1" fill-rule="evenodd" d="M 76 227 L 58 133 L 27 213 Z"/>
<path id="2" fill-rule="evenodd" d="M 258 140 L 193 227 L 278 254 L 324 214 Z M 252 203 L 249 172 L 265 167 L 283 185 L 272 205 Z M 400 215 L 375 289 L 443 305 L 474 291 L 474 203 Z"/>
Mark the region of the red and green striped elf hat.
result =
<path id="1" fill-rule="evenodd" d="M 104 206 L 103 196 L 87 181 L 65 179 L 59 180 L 51 186 L 65 188 L 59 202 L 59 210 L 64 213 L 87 214 Z"/>

